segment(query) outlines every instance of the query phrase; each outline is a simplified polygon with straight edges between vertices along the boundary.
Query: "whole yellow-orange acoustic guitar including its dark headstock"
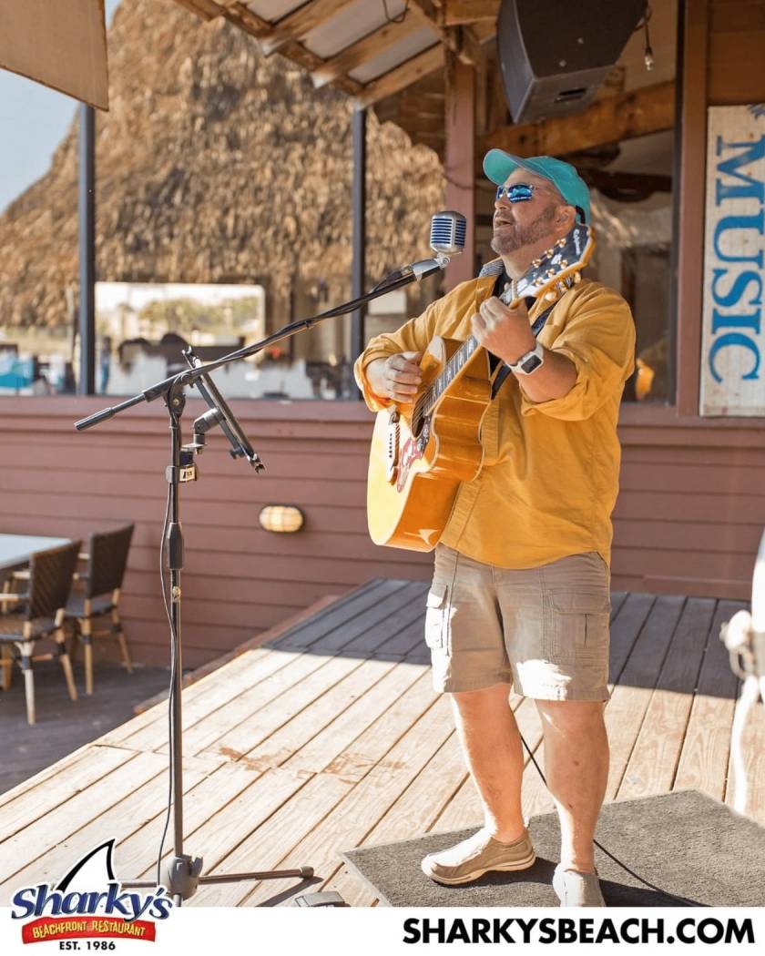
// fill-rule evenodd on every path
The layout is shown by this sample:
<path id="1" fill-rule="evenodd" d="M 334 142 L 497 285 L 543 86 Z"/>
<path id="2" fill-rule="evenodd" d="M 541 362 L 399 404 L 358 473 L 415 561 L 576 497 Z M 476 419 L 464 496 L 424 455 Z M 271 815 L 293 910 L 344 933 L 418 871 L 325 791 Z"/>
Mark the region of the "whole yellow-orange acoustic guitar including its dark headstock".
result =
<path id="1" fill-rule="evenodd" d="M 553 302 L 578 282 L 595 240 L 576 225 L 503 293 Z M 475 337 L 435 336 L 420 362 L 422 385 L 414 402 L 378 412 L 369 456 L 366 511 L 375 544 L 432 551 L 447 526 L 460 484 L 483 464 L 481 424 L 492 402 L 489 353 Z"/>

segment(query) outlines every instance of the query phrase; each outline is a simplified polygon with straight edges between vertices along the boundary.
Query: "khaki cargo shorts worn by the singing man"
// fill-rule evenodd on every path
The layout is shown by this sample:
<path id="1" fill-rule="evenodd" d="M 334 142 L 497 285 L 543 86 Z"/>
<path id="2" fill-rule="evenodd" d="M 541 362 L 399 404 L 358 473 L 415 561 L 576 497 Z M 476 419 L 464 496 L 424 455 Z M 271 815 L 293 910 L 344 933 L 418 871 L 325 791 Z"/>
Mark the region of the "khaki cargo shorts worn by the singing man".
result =
<path id="1" fill-rule="evenodd" d="M 610 572 L 597 552 L 514 570 L 435 549 L 426 643 L 440 691 L 607 701 Z"/>

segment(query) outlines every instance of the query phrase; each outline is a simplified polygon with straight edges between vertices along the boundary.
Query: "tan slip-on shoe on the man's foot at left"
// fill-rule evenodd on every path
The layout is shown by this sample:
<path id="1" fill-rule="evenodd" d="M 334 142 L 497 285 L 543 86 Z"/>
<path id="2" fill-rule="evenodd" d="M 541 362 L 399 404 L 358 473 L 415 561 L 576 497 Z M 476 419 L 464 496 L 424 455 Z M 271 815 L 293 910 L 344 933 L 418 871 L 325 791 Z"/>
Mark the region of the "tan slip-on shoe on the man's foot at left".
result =
<path id="1" fill-rule="evenodd" d="M 468 839 L 423 859 L 423 873 L 449 886 L 477 880 L 490 870 L 525 870 L 536 860 L 529 831 L 513 843 L 500 843 L 481 829 Z"/>

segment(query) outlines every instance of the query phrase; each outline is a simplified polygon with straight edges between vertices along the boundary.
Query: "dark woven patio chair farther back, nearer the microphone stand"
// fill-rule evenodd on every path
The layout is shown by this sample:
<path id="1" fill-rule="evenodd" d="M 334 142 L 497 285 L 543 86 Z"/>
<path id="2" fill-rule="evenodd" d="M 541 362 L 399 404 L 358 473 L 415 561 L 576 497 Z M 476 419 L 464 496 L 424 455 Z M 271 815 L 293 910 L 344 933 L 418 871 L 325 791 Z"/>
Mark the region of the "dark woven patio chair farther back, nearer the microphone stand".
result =
<path id="1" fill-rule="evenodd" d="M 93 693 L 93 639 L 111 638 L 120 641 L 122 662 L 128 674 L 133 664 L 120 620 L 120 589 L 127 565 L 127 553 L 133 537 L 133 525 L 125 525 L 113 532 L 91 534 L 87 554 L 87 570 L 77 575 L 82 589 L 69 598 L 66 617 L 76 623 L 76 637 L 72 645 L 72 659 L 76 658 L 76 641 L 85 650 L 85 693 Z M 97 619 L 108 618 L 107 627 L 94 630 Z"/>

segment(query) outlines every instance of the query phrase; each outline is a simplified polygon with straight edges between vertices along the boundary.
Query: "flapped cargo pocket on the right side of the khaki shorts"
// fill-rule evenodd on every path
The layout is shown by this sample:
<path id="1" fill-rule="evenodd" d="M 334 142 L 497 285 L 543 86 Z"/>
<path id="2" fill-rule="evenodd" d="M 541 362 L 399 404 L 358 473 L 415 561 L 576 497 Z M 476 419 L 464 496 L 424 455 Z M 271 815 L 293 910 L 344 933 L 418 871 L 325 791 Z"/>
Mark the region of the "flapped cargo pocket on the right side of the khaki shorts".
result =
<path id="1" fill-rule="evenodd" d="M 608 655 L 610 597 L 600 591 L 550 594 L 550 653 L 555 661 L 599 661 Z"/>

